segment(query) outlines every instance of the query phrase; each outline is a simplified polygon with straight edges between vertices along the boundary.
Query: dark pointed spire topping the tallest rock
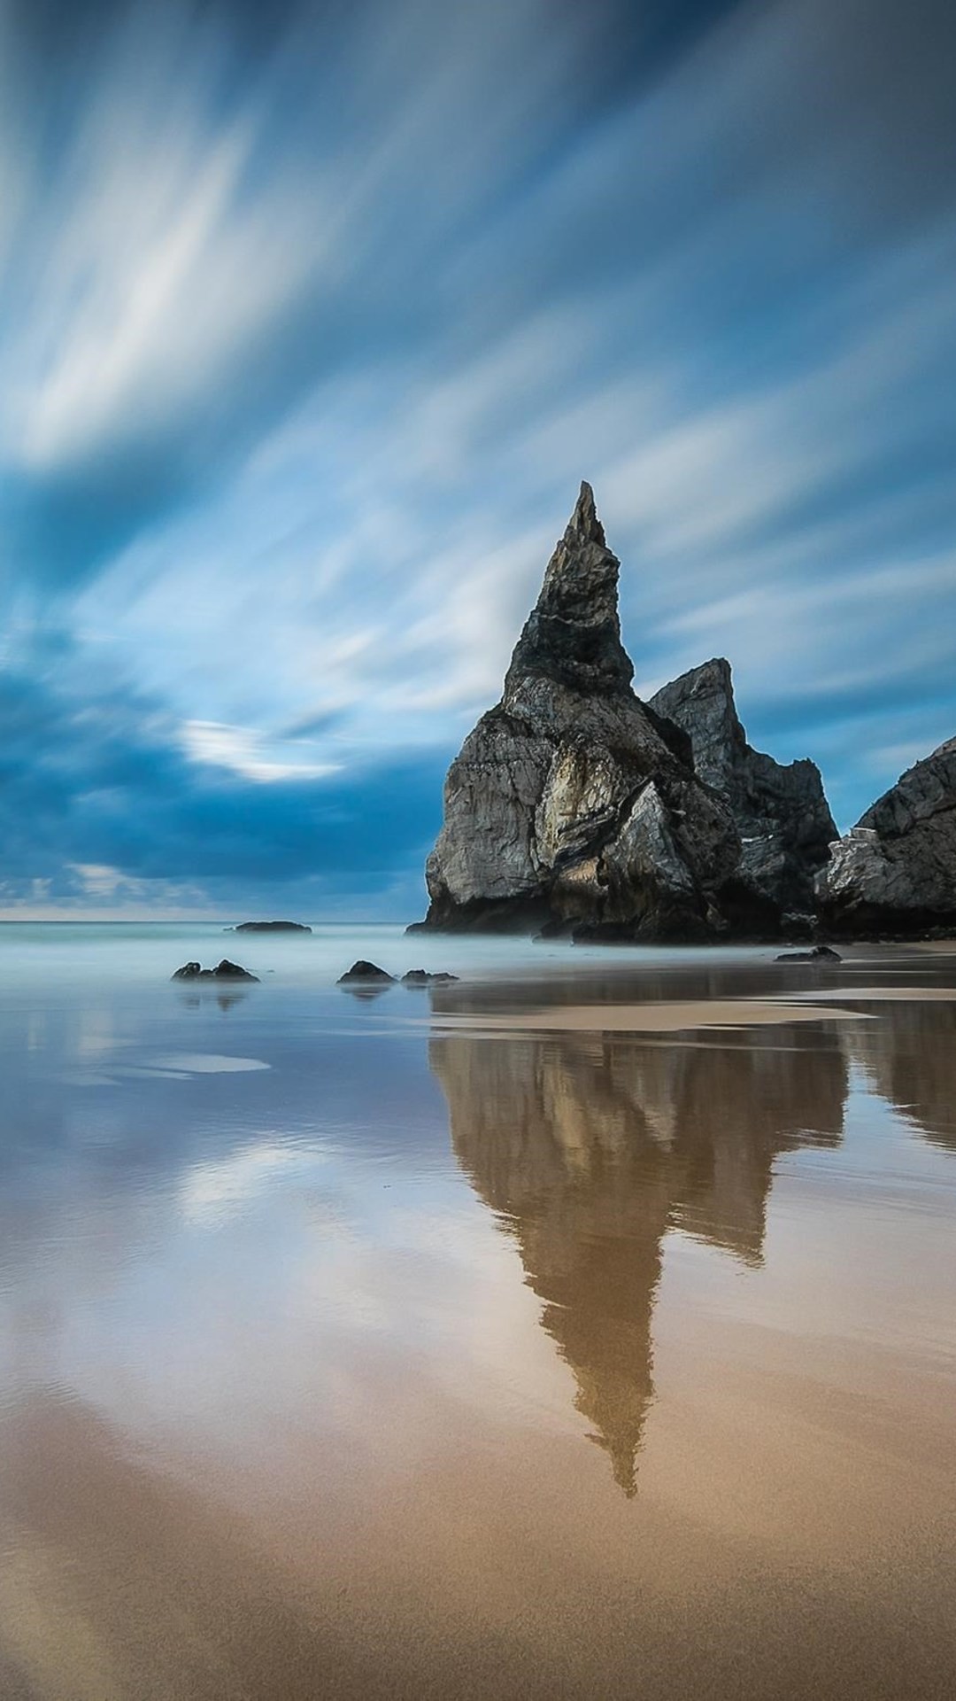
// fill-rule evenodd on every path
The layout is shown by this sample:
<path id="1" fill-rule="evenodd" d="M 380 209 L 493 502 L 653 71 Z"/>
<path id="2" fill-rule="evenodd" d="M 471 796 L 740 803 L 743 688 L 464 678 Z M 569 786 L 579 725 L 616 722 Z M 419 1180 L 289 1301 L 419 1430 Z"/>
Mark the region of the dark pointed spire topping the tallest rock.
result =
<path id="1" fill-rule="evenodd" d="M 570 691 L 629 691 L 634 668 L 621 643 L 617 573 L 604 541 L 594 490 L 582 483 L 565 536 L 548 563 L 541 595 L 515 645 L 505 703 L 529 675 Z"/>

